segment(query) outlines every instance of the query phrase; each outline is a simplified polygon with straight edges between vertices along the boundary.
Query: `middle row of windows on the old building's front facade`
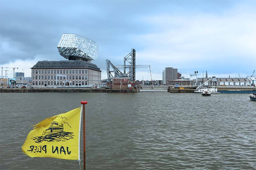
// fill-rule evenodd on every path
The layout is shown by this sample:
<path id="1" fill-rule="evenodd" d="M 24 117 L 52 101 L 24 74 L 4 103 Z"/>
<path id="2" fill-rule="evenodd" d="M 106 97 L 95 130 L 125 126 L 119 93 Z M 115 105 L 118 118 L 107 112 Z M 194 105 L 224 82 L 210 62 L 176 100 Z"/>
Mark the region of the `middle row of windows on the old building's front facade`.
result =
<path id="1" fill-rule="evenodd" d="M 87 80 L 87 75 L 57 76 L 57 80 Z M 56 76 L 32 76 L 32 80 L 56 80 Z"/>

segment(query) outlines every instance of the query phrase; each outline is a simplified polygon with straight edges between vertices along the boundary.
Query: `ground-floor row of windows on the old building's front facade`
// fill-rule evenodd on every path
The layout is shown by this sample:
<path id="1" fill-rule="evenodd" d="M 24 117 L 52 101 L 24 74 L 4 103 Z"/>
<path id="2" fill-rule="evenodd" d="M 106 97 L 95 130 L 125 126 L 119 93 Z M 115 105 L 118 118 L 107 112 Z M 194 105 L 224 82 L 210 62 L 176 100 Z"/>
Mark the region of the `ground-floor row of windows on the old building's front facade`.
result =
<path id="1" fill-rule="evenodd" d="M 56 81 L 32 81 L 32 85 L 42 85 L 42 86 L 48 86 L 48 85 L 56 85 Z M 57 85 L 87 85 L 87 81 L 72 81 L 70 84 L 69 82 L 65 81 L 57 81 Z"/>

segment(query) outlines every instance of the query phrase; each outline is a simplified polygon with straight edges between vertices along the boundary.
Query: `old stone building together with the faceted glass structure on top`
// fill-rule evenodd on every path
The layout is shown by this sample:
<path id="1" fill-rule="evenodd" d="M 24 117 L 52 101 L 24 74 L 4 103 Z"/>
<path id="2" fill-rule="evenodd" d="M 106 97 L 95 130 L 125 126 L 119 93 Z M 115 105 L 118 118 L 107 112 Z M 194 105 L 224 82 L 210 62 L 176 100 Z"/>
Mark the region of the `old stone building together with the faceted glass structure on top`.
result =
<path id="1" fill-rule="evenodd" d="M 57 46 L 68 60 L 38 61 L 31 67 L 34 87 L 92 87 L 99 85 L 101 70 L 92 60 L 98 58 L 98 44 L 76 34 L 63 34 Z"/>

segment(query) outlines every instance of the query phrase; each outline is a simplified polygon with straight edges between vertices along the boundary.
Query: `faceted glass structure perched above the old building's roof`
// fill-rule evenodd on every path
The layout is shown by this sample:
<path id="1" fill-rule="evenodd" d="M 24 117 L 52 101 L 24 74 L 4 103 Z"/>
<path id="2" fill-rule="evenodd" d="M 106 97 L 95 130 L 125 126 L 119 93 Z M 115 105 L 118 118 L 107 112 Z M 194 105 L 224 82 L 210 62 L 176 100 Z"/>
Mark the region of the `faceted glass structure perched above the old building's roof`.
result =
<path id="1" fill-rule="evenodd" d="M 91 62 L 98 58 L 98 44 L 77 34 L 62 34 L 57 48 L 59 54 L 68 60 Z"/>

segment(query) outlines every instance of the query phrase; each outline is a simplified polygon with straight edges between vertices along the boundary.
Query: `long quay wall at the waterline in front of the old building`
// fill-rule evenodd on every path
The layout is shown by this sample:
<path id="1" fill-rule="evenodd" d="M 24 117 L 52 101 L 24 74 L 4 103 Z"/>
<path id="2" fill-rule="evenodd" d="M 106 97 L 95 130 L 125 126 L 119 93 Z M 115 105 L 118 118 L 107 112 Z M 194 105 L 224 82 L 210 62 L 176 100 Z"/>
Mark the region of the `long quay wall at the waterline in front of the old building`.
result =
<path id="1" fill-rule="evenodd" d="M 31 92 L 101 92 L 101 93 L 136 93 L 139 89 L 95 89 L 95 88 L 4 88 L 0 93 L 31 93 Z"/>

